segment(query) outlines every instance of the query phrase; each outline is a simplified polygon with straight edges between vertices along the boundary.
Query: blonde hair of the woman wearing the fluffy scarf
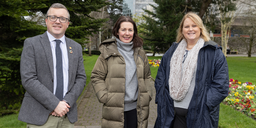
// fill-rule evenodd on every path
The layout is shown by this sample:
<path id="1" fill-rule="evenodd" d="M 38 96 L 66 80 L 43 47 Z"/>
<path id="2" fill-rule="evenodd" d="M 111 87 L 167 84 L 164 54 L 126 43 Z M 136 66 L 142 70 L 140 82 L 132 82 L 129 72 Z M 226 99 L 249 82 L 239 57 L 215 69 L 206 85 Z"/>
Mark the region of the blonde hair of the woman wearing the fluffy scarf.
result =
<path id="1" fill-rule="evenodd" d="M 185 14 L 180 22 L 180 27 L 177 29 L 177 37 L 176 37 L 176 42 L 180 42 L 183 39 L 186 39 L 184 37 L 184 35 L 182 34 L 182 28 L 183 28 L 183 24 L 184 21 L 190 18 L 192 21 L 194 21 L 196 23 L 196 25 L 200 28 L 201 30 L 201 34 L 200 36 L 204 39 L 204 41 L 209 41 L 211 40 L 209 33 L 207 32 L 202 19 L 195 13 L 195 12 L 188 12 L 187 14 Z"/>

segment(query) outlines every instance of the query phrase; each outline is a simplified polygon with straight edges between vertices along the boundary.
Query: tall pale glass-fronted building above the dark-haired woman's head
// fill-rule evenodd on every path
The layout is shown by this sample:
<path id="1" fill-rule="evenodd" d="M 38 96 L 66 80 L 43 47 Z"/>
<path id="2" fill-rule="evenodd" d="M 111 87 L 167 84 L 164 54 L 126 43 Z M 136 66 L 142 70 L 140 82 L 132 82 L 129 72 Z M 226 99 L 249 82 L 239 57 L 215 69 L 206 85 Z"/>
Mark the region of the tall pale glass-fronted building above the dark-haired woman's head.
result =
<path id="1" fill-rule="evenodd" d="M 144 12 L 142 9 L 153 11 L 153 7 L 149 4 L 157 6 L 153 0 L 123 0 L 123 16 L 132 17 L 134 14 L 140 16 Z"/>

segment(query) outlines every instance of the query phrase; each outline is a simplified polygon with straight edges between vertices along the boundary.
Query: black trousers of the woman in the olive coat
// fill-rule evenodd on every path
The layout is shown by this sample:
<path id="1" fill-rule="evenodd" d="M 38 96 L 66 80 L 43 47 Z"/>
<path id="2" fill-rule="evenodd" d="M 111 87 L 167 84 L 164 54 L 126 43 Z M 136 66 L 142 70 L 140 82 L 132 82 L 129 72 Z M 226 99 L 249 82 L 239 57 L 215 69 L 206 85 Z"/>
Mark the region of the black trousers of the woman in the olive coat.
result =
<path id="1" fill-rule="evenodd" d="M 124 128 L 137 128 L 138 127 L 138 118 L 137 110 L 132 109 L 130 111 L 124 112 Z"/>

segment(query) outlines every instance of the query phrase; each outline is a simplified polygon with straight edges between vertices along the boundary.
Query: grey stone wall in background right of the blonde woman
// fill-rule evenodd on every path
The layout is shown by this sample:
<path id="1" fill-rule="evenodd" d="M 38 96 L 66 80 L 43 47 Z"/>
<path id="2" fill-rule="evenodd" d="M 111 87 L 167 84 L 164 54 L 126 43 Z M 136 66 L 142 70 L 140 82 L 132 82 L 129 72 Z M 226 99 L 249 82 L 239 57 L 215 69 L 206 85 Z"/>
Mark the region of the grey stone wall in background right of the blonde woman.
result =
<path id="1" fill-rule="evenodd" d="M 238 54 L 248 54 L 245 43 L 242 41 L 243 37 L 229 37 L 228 46 L 231 51 L 238 51 Z M 212 38 L 211 38 L 212 39 Z M 214 37 L 213 41 L 221 45 L 221 37 Z M 249 44 L 249 38 L 247 38 Z M 252 47 L 252 54 L 256 54 L 256 47 Z"/>

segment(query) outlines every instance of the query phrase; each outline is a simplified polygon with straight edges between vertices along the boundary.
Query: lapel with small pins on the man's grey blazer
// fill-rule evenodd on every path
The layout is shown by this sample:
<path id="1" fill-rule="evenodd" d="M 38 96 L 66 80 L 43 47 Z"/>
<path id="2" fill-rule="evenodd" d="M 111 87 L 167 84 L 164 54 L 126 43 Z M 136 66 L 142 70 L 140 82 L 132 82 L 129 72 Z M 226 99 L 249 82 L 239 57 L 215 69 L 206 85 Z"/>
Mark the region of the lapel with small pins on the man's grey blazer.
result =
<path id="1" fill-rule="evenodd" d="M 71 81 L 71 77 L 72 77 L 72 72 L 73 72 L 73 61 L 74 61 L 74 55 L 70 52 L 70 50 L 72 51 L 72 49 L 70 49 L 69 47 L 72 48 L 72 43 L 71 41 L 65 36 L 65 40 L 66 40 L 66 45 L 67 45 L 67 51 L 68 51 L 68 91 L 70 90 L 70 81 Z"/>

